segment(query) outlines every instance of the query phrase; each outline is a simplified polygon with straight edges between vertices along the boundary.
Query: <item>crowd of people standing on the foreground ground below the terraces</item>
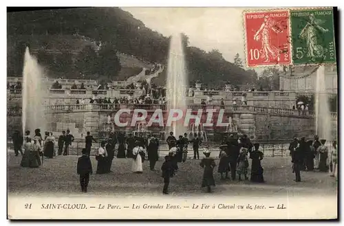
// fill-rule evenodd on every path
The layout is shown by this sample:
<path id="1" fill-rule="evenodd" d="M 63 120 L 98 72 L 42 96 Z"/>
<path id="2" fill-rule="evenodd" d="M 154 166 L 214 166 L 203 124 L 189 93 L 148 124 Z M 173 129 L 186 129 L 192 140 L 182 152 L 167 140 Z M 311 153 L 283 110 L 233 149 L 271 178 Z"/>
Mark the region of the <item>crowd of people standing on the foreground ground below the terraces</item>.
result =
<path id="1" fill-rule="evenodd" d="M 38 168 L 43 163 L 43 157 L 53 158 L 56 155 L 54 151 L 55 138 L 52 133 L 45 133 L 45 138 L 41 136 L 41 131 L 34 131 L 33 139 L 30 137 L 30 131 L 25 132 L 25 137 L 21 137 L 19 131 L 13 135 L 14 152 L 18 156 L 19 152 L 23 155 L 21 166 Z M 24 152 L 21 150 L 21 144 L 24 139 Z M 32 142 L 33 140 L 33 142 Z M 73 135 L 63 131 L 58 137 L 57 155 L 69 155 L 69 146 L 74 141 Z M 85 137 L 85 148 L 83 156 L 79 158 L 77 172 L 80 174 L 80 186 L 82 192 L 87 192 L 89 174 L 92 174 L 92 165 L 89 157 L 92 155 L 92 143 L 97 142 L 94 137 L 87 132 Z M 325 139 L 318 136 L 308 142 L 305 138 L 294 138 L 290 143 L 289 150 L 292 157 L 292 172 L 295 174 L 295 181 L 301 181 L 301 171 L 319 170 L 320 172 L 330 172 L 331 177 L 337 177 L 337 152 L 336 142 L 333 142 L 332 148 L 328 150 L 325 146 Z M 200 147 L 203 144 L 200 134 L 189 137 L 188 134 L 180 135 L 178 139 L 171 132 L 166 139 L 169 147 L 169 154 L 164 157 L 162 164 L 162 177 L 164 186 L 162 192 L 168 194 L 169 183 L 172 177 L 175 177 L 179 163 L 187 161 L 187 155 L 190 149 L 193 150 L 193 159 L 200 159 Z M 159 159 L 160 141 L 150 133 L 144 137 L 144 133 L 134 133 L 126 135 L 125 133 L 114 133 L 111 131 L 106 140 L 100 142 L 100 147 L 96 149 L 95 157 L 97 164 L 96 174 L 107 174 L 111 172 L 111 165 L 116 156 L 118 159 L 132 159 L 131 170 L 133 173 L 141 174 L 143 172 L 143 163 L 149 161 L 150 170 L 155 170 L 155 163 Z M 64 151 L 63 151 L 64 150 Z M 200 161 L 200 167 L 204 168 L 202 177 L 202 188 L 206 187 L 207 192 L 211 192 L 211 187 L 215 186 L 213 173 L 215 172 L 215 159 L 210 157 L 211 150 L 207 145 L 201 148 L 204 158 Z M 249 159 L 252 159 L 251 164 Z M 217 173 L 222 180 L 231 181 L 248 180 L 255 183 L 264 183 L 264 168 L 261 161 L 264 159 L 264 153 L 259 150 L 259 144 L 252 144 L 247 135 L 237 137 L 230 134 L 225 137 L 219 146 L 219 164 Z M 248 177 L 248 168 L 250 167 L 250 178 Z"/>

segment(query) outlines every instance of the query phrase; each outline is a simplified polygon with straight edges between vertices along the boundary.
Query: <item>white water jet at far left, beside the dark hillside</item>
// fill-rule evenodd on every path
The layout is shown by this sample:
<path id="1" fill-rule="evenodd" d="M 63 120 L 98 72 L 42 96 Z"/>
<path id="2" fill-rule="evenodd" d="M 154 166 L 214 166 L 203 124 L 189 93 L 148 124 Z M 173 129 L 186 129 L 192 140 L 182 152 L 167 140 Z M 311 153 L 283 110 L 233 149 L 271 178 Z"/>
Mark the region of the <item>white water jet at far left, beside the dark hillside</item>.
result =
<path id="1" fill-rule="evenodd" d="M 30 55 L 29 48 L 25 49 L 23 84 L 22 84 L 22 127 L 34 134 L 36 128 L 45 131 L 45 109 L 42 90 L 43 69 L 36 58 Z"/>

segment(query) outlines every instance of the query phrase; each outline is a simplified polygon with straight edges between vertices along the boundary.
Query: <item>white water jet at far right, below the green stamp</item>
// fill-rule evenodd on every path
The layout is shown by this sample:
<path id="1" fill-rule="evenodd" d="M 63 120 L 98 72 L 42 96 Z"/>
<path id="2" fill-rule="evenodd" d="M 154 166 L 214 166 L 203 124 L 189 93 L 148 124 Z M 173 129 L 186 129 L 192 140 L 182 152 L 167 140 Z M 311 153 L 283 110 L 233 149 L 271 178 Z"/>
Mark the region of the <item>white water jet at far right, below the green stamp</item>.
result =
<path id="1" fill-rule="evenodd" d="M 325 84 L 325 67 L 320 66 L 316 71 L 315 131 L 320 139 L 331 140 L 332 122 Z"/>

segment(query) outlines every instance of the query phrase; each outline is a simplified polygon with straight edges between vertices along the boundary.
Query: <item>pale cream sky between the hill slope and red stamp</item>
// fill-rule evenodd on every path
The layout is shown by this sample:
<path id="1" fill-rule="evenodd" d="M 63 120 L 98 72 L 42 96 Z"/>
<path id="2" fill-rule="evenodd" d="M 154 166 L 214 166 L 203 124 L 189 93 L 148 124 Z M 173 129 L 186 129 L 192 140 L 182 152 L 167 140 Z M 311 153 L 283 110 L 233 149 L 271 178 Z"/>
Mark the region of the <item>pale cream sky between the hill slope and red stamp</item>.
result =
<path id="1" fill-rule="evenodd" d="M 245 8 L 122 8 L 142 21 L 146 27 L 164 36 L 184 33 L 189 45 L 205 51 L 219 49 L 233 62 L 235 54 L 245 62 Z"/>

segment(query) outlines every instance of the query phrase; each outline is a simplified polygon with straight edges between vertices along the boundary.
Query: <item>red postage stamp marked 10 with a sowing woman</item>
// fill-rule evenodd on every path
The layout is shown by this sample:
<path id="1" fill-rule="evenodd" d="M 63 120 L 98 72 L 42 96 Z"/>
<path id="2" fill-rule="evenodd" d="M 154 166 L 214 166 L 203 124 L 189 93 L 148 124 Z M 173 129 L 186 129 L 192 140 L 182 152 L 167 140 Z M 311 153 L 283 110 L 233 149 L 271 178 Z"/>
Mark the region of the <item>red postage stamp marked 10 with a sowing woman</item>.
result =
<path id="1" fill-rule="evenodd" d="M 244 23 L 248 67 L 291 63 L 288 10 L 245 12 Z"/>

